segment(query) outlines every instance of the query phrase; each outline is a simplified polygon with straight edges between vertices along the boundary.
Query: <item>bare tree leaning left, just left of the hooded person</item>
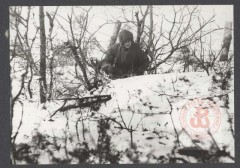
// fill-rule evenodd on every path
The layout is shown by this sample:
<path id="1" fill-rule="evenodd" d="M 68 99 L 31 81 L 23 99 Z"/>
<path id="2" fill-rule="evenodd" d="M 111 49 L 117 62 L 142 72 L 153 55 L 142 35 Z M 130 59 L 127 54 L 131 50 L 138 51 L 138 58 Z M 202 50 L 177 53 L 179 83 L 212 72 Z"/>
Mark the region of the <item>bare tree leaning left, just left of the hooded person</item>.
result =
<path id="1" fill-rule="evenodd" d="M 80 69 L 81 75 L 78 75 L 78 78 L 87 90 L 91 90 L 94 87 L 91 81 L 94 80 L 96 76 L 94 71 L 95 67 L 94 64 L 92 64 L 93 61 L 89 59 L 88 55 L 91 49 L 98 47 L 95 34 L 107 24 L 103 23 L 94 32 L 89 32 L 89 13 L 91 9 L 92 7 L 88 9 L 80 8 L 81 14 L 76 15 L 75 8 L 72 7 L 68 18 L 64 19 L 68 23 L 70 30 L 70 33 L 66 30 L 69 39 L 68 42 L 65 43 L 65 46 L 71 50 L 77 66 L 76 69 Z M 58 23 L 60 27 L 64 29 L 64 26 L 60 22 Z"/>

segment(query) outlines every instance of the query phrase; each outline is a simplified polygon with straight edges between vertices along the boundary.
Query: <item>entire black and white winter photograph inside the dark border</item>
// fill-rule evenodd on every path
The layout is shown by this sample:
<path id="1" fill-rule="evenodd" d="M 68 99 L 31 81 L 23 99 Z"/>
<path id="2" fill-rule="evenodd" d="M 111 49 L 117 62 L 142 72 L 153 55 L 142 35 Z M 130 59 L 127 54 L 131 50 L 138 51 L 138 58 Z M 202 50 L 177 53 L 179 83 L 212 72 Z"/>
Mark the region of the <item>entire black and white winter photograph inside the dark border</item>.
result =
<path id="1" fill-rule="evenodd" d="M 235 163 L 233 5 L 9 6 L 10 163 Z"/>

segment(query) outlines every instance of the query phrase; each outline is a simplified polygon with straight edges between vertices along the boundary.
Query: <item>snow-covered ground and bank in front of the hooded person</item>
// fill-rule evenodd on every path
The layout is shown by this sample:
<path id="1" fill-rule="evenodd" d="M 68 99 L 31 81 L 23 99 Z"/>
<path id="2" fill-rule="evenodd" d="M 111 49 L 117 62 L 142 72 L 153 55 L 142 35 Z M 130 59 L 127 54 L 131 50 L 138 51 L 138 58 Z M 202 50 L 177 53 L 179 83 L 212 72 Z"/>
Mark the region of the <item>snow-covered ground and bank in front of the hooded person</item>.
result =
<path id="1" fill-rule="evenodd" d="M 225 100 L 218 96 L 227 93 L 229 108 L 226 108 Z M 207 76 L 205 72 L 144 75 L 111 81 L 93 94 L 111 94 L 112 99 L 101 104 L 98 111 L 84 108 L 58 112 L 50 121 L 50 115 L 61 107 L 63 101 L 40 104 L 37 101 L 22 100 L 23 120 L 16 144 L 31 144 L 34 142 L 33 137 L 36 137 L 34 135 L 41 134 L 55 139 L 52 142 L 56 146 L 57 137 L 60 150 L 53 150 L 54 145 L 48 145 L 40 151 L 38 159 L 40 164 L 52 163 L 46 152 L 49 148 L 55 157 L 61 159 L 69 157 L 66 149 L 73 151 L 83 142 L 87 142 L 90 149 L 96 149 L 99 118 L 110 118 L 107 134 L 111 137 L 111 149 L 122 153 L 119 163 L 133 163 L 133 158 L 140 163 L 158 163 L 164 158 L 169 158 L 172 151 L 175 151 L 176 157 L 184 158 L 188 162 L 198 162 L 194 157 L 178 154 L 177 150 L 194 145 L 201 149 L 213 150 L 213 143 L 220 149 L 226 147 L 226 151 L 234 157 L 234 137 L 228 122 L 234 114 L 233 79 L 230 88 L 223 91 L 213 83 L 212 76 Z M 182 129 L 180 111 L 190 100 L 208 97 L 219 107 L 221 124 L 212 138 L 209 136 L 194 141 Z M 17 103 L 14 109 L 13 133 L 21 120 L 21 110 L 21 104 Z M 120 128 L 119 124 L 124 128 Z M 132 135 L 129 131 L 131 129 L 134 130 Z M 129 152 L 132 153 L 131 157 Z M 90 156 L 89 160 L 98 163 L 94 155 Z M 220 158 L 220 162 L 233 160 Z M 73 159 L 71 163 L 77 161 Z"/>

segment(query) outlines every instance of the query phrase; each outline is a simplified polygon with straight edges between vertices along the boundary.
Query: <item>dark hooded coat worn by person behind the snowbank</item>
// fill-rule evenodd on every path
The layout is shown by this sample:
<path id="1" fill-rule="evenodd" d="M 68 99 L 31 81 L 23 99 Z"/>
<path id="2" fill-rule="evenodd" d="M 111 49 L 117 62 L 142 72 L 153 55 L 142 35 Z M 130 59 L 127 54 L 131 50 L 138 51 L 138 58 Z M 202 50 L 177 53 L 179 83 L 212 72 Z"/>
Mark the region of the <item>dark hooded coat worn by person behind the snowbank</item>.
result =
<path id="1" fill-rule="evenodd" d="M 124 42 L 131 41 L 130 48 L 124 47 Z M 147 55 L 138 43 L 133 42 L 133 34 L 127 30 L 119 33 L 119 43 L 110 47 L 101 66 L 111 65 L 112 78 L 124 78 L 131 75 L 142 75 L 149 63 Z"/>

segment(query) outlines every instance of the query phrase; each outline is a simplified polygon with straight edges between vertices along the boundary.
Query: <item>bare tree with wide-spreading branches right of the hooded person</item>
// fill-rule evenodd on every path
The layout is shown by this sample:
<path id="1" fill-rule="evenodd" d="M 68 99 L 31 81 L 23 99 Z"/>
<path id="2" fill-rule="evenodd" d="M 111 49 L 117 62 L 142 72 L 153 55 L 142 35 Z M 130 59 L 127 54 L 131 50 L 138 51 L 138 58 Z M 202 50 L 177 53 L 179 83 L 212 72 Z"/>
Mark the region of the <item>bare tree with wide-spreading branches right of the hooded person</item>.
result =
<path id="1" fill-rule="evenodd" d="M 151 58 L 148 73 L 157 73 L 157 68 L 162 64 L 175 64 L 177 61 L 172 59 L 175 53 L 221 29 L 218 26 L 210 30 L 207 29 L 214 22 L 215 16 L 213 15 L 207 20 L 204 19 L 200 15 L 198 6 L 173 6 L 172 19 L 163 15 L 162 19 L 158 18 L 157 21 L 154 20 L 153 7 L 151 5 L 147 6 L 145 12 L 142 11 L 141 7 L 135 12 L 136 21 L 129 19 L 125 10 L 122 10 L 122 13 L 125 20 L 122 23 L 133 24 L 137 27 L 136 42 L 146 49 L 145 53 Z M 139 14 L 141 14 L 142 18 L 140 18 Z M 148 14 L 149 24 L 146 22 Z M 169 25 L 168 27 L 170 28 L 164 30 L 164 25 Z"/>

